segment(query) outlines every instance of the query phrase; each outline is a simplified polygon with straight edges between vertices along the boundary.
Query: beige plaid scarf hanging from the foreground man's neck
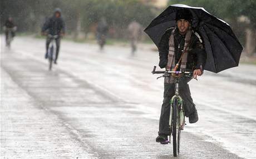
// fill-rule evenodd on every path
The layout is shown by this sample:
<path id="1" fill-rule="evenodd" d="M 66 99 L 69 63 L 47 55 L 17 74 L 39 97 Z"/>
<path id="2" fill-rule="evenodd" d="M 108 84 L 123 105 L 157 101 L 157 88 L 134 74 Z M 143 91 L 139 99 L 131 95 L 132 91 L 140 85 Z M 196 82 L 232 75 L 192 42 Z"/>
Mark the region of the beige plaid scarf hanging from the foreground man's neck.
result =
<path id="1" fill-rule="evenodd" d="M 169 54 L 168 54 L 168 63 L 166 65 L 166 70 L 176 71 L 179 68 L 179 63 L 181 60 L 180 71 L 186 69 L 186 62 L 188 58 L 188 50 L 189 50 L 189 41 L 191 37 L 191 29 L 189 28 L 188 32 L 185 35 L 185 45 L 184 52 L 181 55 L 181 59 L 179 59 L 178 63 L 175 64 L 175 47 L 174 47 L 174 32 L 176 28 L 173 29 L 169 38 Z M 174 83 L 174 77 L 170 75 L 170 77 L 165 77 L 165 83 Z"/>

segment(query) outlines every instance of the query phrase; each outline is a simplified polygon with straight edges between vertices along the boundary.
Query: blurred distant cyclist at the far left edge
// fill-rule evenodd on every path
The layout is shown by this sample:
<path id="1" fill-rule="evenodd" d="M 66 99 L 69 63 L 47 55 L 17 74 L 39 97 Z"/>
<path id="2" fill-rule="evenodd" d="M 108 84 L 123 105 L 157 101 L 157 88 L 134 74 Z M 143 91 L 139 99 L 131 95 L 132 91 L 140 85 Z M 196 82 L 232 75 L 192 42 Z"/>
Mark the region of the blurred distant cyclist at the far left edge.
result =
<path id="1" fill-rule="evenodd" d="M 9 47 L 11 40 L 14 38 L 15 36 L 15 31 L 16 31 L 17 27 L 16 25 L 14 25 L 13 23 L 13 19 L 12 17 L 9 17 L 6 22 L 4 23 L 4 33 L 6 35 L 6 45 Z"/>

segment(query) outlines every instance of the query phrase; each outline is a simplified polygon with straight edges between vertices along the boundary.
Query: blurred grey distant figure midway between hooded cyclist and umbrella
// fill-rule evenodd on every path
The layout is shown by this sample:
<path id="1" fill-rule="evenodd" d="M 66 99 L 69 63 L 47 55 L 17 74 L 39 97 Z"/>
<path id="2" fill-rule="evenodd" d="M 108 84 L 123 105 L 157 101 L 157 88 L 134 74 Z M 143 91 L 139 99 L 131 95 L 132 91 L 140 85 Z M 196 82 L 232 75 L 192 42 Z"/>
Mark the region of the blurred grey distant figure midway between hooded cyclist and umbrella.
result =
<path id="1" fill-rule="evenodd" d="M 105 17 L 102 17 L 97 25 L 97 41 L 100 45 L 100 49 L 102 50 L 105 43 L 107 32 L 109 31 L 109 26 L 107 25 L 107 20 Z"/>

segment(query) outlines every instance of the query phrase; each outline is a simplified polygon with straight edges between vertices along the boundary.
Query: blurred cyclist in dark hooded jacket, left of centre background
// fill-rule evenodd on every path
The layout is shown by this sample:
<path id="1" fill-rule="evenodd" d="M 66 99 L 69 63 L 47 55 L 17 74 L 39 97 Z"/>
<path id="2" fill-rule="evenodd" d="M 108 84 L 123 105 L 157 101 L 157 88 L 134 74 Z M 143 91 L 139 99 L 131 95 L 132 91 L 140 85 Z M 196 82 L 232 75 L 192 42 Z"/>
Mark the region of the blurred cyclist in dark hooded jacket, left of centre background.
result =
<path id="1" fill-rule="evenodd" d="M 61 16 L 61 9 L 56 8 L 55 12 L 53 14 L 53 17 L 49 18 L 46 20 L 45 24 L 43 24 L 42 27 L 42 35 L 45 35 L 46 31 L 48 31 L 48 34 L 54 36 L 58 35 L 58 38 L 56 38 L 56 57 L 54 63 L 57 64 L 57 58 L 58 58 L 58 53 L 60 51 L 60 42 L 61 42 L 61 37 L 65 35 L 65 22 Z M 47 37 L 46 39 L 46 54 L 45 58 L 48 58 L 47 50 L 49 48 L 49 44 L 51 43 L 51 38 Z"/>

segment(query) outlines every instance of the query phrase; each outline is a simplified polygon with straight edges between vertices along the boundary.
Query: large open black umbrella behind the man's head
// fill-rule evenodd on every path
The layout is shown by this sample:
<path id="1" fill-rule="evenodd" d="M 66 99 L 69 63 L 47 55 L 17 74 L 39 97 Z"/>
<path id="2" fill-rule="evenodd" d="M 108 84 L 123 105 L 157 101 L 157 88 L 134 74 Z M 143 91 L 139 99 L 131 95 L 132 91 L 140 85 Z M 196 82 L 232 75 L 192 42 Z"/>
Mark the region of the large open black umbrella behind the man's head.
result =
<path id="1" fill-rule="evenodd" d="M 182 8 L 189 9 L 193 15 L 191 27 L 203 39 L 207 54 L 205 70 L 218 73 L 238 66 L 243 47 L 235 37 L 229 24 L 212 16 L 201 7 L 174 4 L 152 20 L 144 32 L 149 35 L 156 46 L 159 47 L 159 42 L 165 30 L 176 25 L 176 12 Z"/>

